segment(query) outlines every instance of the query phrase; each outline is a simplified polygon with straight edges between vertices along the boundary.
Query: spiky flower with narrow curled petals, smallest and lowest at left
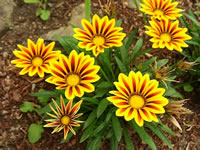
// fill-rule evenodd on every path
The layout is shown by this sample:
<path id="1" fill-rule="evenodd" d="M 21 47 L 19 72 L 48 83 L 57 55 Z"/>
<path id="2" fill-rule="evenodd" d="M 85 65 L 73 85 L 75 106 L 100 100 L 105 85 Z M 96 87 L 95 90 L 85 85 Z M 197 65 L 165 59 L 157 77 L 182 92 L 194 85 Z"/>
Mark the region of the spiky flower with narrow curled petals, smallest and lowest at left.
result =
<path id="1" fill-rule="evenodd" d="M 65 106 L 64 100 L 61 96 L 60 97 L 61 107 L 59 107 L 58 104 L 53 100 L 53 103 L 57 111 L 51 105 L 49 105 L 49 107 L 51 108 L 51 110 L 54 112 L 55 115 L 47 113 L 53 119 L 45 120 L 46 122 L 49 122 L 49 123 L 44 125 L 44 127 L 55 127 L 52 134 L 55 132 L 60 132 L 62 129 L 64 129 L 64 139 L 67 138 L 67 134 L 69 130 L 74 135 L 76 135 L 76 132 L 74 131 L 72 127 L 73 126 L 79 127 L 80 126 L 79 123 L 83 122 L 83 121 L 76 120 L 77 118 L 83 115 L 82 113 L 76 115 L 76 113 L 80 109 L 82 100 L 77 102 L 73 107 L 72 107 L 72 101 L 73 100 L 69 100 L 69 102 Z"/>

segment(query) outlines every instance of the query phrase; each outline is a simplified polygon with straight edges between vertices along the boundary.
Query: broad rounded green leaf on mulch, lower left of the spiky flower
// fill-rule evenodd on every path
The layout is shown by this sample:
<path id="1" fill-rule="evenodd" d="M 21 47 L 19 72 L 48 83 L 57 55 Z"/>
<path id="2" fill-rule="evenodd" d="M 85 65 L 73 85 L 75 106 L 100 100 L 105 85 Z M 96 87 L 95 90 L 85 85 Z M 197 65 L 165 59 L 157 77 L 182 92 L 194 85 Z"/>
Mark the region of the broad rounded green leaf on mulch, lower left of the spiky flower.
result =
<path id="1" fill-rule="evenodd" d="M 43 133 L 44 129 L 42 125 L 32 123 L 28 128 L 28 140 L 30 143 L 37 142 Z"/>

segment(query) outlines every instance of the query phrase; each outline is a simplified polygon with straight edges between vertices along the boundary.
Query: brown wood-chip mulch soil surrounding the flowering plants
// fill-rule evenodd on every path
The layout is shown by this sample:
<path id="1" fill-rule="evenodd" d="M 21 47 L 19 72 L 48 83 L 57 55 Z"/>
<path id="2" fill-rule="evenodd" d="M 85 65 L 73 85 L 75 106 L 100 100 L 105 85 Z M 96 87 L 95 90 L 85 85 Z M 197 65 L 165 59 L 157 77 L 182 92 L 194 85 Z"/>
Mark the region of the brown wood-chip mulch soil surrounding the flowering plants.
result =
<path id="1" fill-rule="evenodd" d="M 51 87 L 37 76 L 20 76 L 18 74 L 19 69 L 10 64 L 10 60 L 14 59 L 12 51 L 17 48 L 17 44 L 26 45 L 28 38 L 36 41 L 44 33 L 66 26 L 70 19 L 72 8 L 79 5 L 83 0 L 49 0 L 48 2 L 53 6 L 49 8 L 51 17 L 45 22 L 35 16 L 35 10 L 38 5 L 25 4 L 22 0 L 15 0 L 16 7 L 12 16 L 13 25 L 0 33 L 0 149 L 3 150 L 86 149 L 86 142 L 79 144 L 80 133 L 71 138 L 69 142 L 60 144 L 63 133 L 51 135 L 52 130 L 48 128 L 45 128 L 45 132 L 39 142 L 35 144 L 29 143 L 27 138 L 28 127 L 31 123 L 36 123 L 40 120 L 41 116 L 37 113 L 22 113 L 19 110 L 20 105 L 25 101 L 32 101 L 35 105 L 38 104 L 37 99 L 30 96 L 30 93 L 37 92 L 40 88 L 49 89 L 54 87 Z M 199 2 L 199 0 L 179 0 L 179 7 L 184 10 L 187 10 L 188 7 L 193 10 L 197 9 L 193 7 L 194 2 Z M 136 9 L 128 8 L 125 0 L 115 0 L 113 5 L 115 5 L 116 17 L 123 19 L 122 27 L 124 32 L 129 34 L 133 28 L 137 27 L 137 37 L 142 37 L 145 42 L 143 49 L 150 48 L 149 37 L 144 34 L 142 14 L 138 13 Z M 102 11 L 99 11 L 100 7 L 97 0 L 92 1 L 92 7 L 93 13 L 103 14 Z M 135 44 L 135 41 L 133 44 Z M 151 54 L 160 58 L 169 58 L 170 60 L 178 55 L 176 52 L 160 49 L 153 50 Z M 185 104 L 185 107 L 194 113 L 192 115 L 183 115 L 179 119 L 183 128 L 182 133 L 171 123 L 164 120 L 178 135 L 176 137 L 168 135 L 168 138 L 172 141 L 175 150 L 198 150 L 200 149 L 200 104 L 196 103 L 197 96 L 195 93 L 189 93 L 185 95 L 185 98 L 190 99 Z M 131 135 L 135 149 L 149 149 L 147 145 L 142 143 L 137 134 L 132 132 Z M 155 135 L 152 136 L 158 150 L 168 149 Z M 105 150 L 110 149 L 109 141 L 103 142 L 101 147 Z M 119 149 L 125 149 L 123 141 L 119 145 Z"/>

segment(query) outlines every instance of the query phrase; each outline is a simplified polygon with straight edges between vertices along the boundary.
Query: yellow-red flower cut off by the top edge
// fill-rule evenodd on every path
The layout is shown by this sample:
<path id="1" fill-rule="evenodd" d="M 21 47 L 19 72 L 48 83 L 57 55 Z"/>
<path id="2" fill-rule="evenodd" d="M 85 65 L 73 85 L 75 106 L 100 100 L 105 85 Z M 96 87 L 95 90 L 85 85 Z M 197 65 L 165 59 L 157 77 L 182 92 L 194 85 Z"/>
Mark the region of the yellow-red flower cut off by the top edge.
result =
<path id="1" fill-rule="evenodd" d="M 177 17 L 182 16 L 179 14 L 181 9 L 177 9 L 178 2 L 172 0 L 143 0 L 141 4 L 141 11 L 152 15 L 155 19 L 170 19 L 175 20 Z"/>

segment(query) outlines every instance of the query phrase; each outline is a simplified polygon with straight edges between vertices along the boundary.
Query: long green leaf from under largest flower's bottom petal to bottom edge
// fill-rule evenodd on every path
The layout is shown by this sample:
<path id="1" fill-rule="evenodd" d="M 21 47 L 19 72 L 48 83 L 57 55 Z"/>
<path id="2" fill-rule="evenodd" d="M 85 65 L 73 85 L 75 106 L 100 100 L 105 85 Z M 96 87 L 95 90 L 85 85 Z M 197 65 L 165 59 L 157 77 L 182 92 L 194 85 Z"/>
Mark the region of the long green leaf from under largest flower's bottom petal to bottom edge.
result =
<path id="1" fill-rule="evenodd" d="M 144 130 L 144 127 L 139 127 L 134 120 L 129 121 L 129 125 L 137 132 L 142 141 L 149 145 L 152 150 L 156 150 L 156 145 L 152 138 Z"/>

